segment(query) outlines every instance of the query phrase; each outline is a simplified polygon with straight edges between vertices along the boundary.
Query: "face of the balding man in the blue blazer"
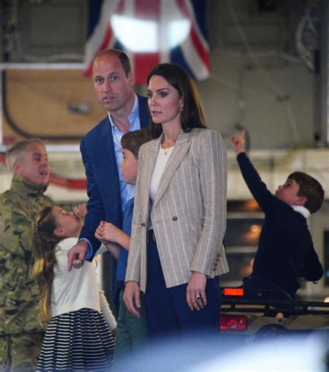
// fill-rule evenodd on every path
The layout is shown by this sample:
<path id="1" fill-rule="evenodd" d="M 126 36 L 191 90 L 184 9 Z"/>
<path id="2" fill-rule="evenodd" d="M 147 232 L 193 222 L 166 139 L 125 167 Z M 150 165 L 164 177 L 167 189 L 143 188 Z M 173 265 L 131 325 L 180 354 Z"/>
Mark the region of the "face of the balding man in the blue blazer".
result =
<path id="1" fill-rule="evenodd" d="M 133 94 L 133 74 L 124 73 L 117 56 L 99 56 L 92 67 L 96 97 L 109 112 L 125 108 Z"/>

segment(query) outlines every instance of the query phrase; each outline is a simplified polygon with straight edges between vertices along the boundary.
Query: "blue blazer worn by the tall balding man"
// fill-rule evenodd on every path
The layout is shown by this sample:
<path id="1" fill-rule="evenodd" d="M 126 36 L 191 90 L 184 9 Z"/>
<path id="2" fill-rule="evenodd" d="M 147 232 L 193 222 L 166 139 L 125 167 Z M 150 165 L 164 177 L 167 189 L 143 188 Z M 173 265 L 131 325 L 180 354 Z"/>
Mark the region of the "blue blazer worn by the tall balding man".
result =
<path id="1" fill-rule="evenodd" d="M 149 126 L 147 99 L 138 96 L 140 126 Z M 88 239 L 92 244 L 92 260 L 101 243 L 94 237 L 100 221 L 108 221 L 122 228 L 119 176 L 112 128 L 108 115 L 81 141 L 80 151 L 87 176 L 87 215 L 79 239 Z"/>

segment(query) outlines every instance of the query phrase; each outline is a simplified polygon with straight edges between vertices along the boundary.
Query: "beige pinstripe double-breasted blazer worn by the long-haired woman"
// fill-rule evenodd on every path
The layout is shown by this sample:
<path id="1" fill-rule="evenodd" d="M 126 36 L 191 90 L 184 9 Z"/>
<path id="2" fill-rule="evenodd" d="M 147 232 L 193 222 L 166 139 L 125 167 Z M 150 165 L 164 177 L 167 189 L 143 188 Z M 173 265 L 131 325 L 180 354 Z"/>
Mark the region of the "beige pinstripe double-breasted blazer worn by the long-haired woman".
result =
<path id="1" fill-rule="evenodd" d="M 211 278 L 228 271 L 222 244 L 227 155 L 221 135 L 201 128 L 180 132 L 151 208 L 150 180 L 161 140 L 144 144 L 139 155 L 126 281 L 136 280 L 142 291 L 150 214 L 167 287 L 188 282 L 191 271 Z"/>

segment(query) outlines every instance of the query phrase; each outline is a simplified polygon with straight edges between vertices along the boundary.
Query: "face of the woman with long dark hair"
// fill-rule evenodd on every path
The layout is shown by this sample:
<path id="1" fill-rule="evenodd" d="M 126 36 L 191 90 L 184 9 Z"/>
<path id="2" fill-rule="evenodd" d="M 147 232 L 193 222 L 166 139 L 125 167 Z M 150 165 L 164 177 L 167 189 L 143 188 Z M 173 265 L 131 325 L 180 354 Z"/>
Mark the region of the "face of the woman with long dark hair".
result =
<path id="1" fill-rule="evenodd" d="M 147 90 L 149 110 L 155 124 L 179 124 L 183 98 L 162 76 L 153 75 Z"/>

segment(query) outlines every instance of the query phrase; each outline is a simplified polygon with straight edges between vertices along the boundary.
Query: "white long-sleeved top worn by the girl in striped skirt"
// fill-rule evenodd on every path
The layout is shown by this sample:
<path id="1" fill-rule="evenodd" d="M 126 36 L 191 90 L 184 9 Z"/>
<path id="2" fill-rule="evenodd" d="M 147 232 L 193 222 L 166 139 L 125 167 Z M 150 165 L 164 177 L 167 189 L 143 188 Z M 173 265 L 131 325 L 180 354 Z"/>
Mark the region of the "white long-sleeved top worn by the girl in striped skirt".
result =
<path id="1" fill-rule="evenodd" d="M 53 268 L 53 283 L 51 285 L 51 316 L 58 316 L 67 312 L 75 312 L 87 307 L 103 312 L 106 321 L 113 330 L 117 326 L 104 292 L 97 282 L 94 264 L 84 261 L 83 267 L 72 267 L 67 271 L 67 252 L 78 242 L 75 237 L 67 238 L 56 247 L 57 264 Z M 106 251 L 101 247 L 97 254 Z"/>

